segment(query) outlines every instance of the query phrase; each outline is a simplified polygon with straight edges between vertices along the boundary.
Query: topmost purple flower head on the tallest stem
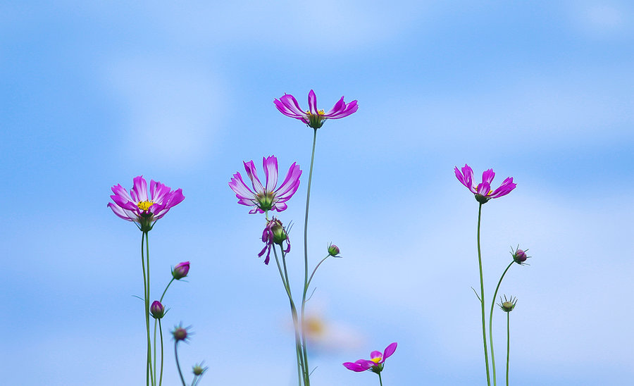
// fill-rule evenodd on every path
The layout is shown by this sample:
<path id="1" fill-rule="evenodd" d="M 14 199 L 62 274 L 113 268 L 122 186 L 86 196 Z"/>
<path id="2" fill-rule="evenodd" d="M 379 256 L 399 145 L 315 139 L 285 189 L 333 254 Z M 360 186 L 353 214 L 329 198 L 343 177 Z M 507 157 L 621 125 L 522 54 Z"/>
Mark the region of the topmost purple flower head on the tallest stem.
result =
<path id="1" fill-rule="evenodd" d="M 344 97 L 341 97 L 341 99 L 337 101 L 335 106 L 333 106 L 328 113 L 317 109 L 317 96 L 313 90 L 309 92 L 309 110 L 306 110 L 306 112 L 299 108 L 297 99 L 295 99 L 291 94 L 284 94 L 279 100 L 275 99 L 273 103 L 280 113 L 285 116 L 302 120 L 302 122 L 306 123 L 306 125 L 309 125 L 310 127 L 313 127 L 313 129 L 318 129 L 327 119 L 344 118 L 352 113 L 355 113 L 359 109 L 359 105 L 356 104 L 356 101 L 352 101 L 347 104 L 343 99 Z"/>

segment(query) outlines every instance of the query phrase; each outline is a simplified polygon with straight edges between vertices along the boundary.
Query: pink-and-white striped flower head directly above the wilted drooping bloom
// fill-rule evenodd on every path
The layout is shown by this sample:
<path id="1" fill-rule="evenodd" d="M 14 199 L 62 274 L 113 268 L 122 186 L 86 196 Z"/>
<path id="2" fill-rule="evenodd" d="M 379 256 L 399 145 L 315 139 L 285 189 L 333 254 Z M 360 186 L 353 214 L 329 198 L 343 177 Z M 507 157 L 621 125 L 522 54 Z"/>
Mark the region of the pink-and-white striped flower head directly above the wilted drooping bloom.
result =
<path id="1" fill-rule="evenodd" d="M 275 189 L 275 186 L 278 185 L 278 158 L 275 156 L 263 158 L 266 185 L 262 185 L 260 182 L 253 161 L 243 163 L 251 180 L 251 185 L 253 185 L 253 190 L 244 183 L 240 172 L 235 173 L 229 182 L 229 187 L 235 192 L 238 204 L 253 206 L 254 208 L 249 211 L 250 214 L 285 210 L 287 208 L 285 202 L 293 197 L 299 187 L 299 176 L 302 175 L 299 165 L 293 163 L 288 169 L 282 185 Z"/>

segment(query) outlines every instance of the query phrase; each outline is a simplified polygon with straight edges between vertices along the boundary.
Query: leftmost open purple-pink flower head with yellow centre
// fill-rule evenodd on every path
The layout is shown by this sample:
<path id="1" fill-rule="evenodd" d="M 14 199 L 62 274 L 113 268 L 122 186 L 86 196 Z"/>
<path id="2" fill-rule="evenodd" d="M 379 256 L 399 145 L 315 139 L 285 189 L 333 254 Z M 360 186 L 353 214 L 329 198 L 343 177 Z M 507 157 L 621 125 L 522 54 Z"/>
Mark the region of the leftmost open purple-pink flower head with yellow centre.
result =
<path id="1" fill-rule="evenodd" d="M 114 202 L 108 203 L 108 206 L 123 220 L 137 223 L 143 232 L 151 230 L 156 220 L 185 199 L 182 189 L 171 190 L 154 180 L 150 180 L 148 191 L 147 182 L 142 175 L 135 177 L 130 193 L 121 185 L 113 186 L 112 192 L 114 194 L 110 197 Z"/>

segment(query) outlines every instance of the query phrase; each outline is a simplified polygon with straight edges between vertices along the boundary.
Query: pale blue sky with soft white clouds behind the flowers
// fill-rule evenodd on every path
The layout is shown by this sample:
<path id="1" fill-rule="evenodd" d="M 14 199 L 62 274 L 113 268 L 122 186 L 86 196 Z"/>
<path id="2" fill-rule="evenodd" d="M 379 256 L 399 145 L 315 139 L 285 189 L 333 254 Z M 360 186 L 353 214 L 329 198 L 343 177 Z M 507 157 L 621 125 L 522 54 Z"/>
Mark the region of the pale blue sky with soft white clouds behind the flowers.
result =
<path id="1" fill-rule="evenodd" d="M 309 303 L 315 385 L 390 342 L 385 385 L 481 385 L 475 220 L 454 166 L 517 189 L 483 213 L 487 297 L 511 314 L 514 385 L 626 385 L 634 372 L 634 7 L 626 1 L 111 1 L 0 4 L 0 373 L 7 385 L 139 385 L 140 232 L 106 208 L 144 175 L 185 201 L 152 230 L 166 327 L 193 325 L 203 385 L 293 385 L 287 301 L 263 219 L 228 187 L 275 154 L 304 175 L 287 211 L 302 280 L 311 129 L 273 99 L 359 111 L 318 132 Z M 162 271 L 161 271 L 162 270 Z M 498 366 L 503 314 L 495 314 Z M 113 376 L 116 379 L 113 380 Z M 168 356 L 166 385 L 177 385 Z"/>

